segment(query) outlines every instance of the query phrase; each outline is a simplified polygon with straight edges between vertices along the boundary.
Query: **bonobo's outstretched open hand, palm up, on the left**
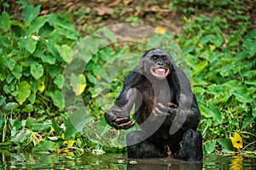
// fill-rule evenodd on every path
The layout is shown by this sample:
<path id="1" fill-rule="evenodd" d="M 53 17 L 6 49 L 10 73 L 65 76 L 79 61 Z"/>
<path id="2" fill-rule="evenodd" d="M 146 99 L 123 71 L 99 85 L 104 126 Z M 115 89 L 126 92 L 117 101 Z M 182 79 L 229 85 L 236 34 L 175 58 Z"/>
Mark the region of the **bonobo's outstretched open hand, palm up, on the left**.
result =
<path id="1" fill-rule="evenodd" d="M 118 110 L 117 112 L 119 111 L 120 110 Z M 113 111 L 106 111 L 104 116 L 108 124 L 112 127 L 115 127 L 116 129 L 128 129 L 135 125 L 135 121 L 130 121 L 130 118 L 128 116 L 116 116 L 115 114 L 113 114 Z"/>

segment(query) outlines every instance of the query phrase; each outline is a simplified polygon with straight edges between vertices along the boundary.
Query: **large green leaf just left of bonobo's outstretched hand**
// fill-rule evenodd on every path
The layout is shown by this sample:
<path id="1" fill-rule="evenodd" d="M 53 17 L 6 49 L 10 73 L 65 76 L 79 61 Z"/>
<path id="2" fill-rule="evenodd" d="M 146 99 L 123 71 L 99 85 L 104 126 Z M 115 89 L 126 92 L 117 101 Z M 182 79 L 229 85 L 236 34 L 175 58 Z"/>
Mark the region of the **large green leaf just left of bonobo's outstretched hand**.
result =
<path id="1" fill-rule="evenodd" d="M 85 124 L 92 120 L 93 117 L 87 114 L 85 107 L 79 108 L 79 110 L 71 114 L 68 117 L 67 122 L 65 122 L 65 139 L 70 139 L 75 135 L 75 133 L 82 132 Z"/>

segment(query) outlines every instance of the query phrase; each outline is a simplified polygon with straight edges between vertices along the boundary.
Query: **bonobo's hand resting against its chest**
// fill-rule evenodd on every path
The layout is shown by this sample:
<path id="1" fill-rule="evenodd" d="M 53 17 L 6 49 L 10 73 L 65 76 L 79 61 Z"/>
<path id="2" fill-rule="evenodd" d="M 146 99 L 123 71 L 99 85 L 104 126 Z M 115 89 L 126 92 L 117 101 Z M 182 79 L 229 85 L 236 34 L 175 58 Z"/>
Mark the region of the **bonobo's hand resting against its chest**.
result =
<path id="1" fill-rule="evenodd" d="M 168 105 L 158 103 L 152 112 L 157 116 L 170 116 L 177 113 L 177 105 L 173 103 L 168 103 Z"/>

